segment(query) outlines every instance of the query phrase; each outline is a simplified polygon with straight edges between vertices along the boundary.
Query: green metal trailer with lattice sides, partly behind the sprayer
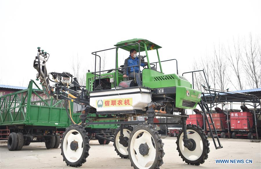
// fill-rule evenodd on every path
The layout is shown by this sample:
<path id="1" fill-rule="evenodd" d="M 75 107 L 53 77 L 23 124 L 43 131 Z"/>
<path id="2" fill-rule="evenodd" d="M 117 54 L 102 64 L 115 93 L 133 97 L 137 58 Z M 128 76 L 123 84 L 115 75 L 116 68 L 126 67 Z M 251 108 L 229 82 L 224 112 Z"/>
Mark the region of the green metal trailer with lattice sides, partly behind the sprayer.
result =
<path id="1" fill-rule="evenodd" d="M 36 89 L 33 88 L 35 85 Z M 68 117 L 68 110 L 64 100 L 55 100 L 47 95 L 31 80 L 28 88 L 9 93 L 0 97 L 0 136 L 1 139 L 8 139 L 8 149 L 21 150 L 23 146 L 31 142 L 45 142 L 46 148 L 58 148 L 60 135 L 58 131 L 65 131 L 71 125 Z M 69 101 L 69 110 L 73 109 L 73 103 Z M 81 113 L 72 113 L 71 118 L 80 122 Z M 107 117 L 100 115 L 99 118 Z M 89 119 L 97 118 L 92 114 Z M 113 120 L 106 120 L 113 122 Z M 90 125 L 86 126 L 89 135 L 99 140 L 100 144 L 104 139 L 98 135 L 111 137 L 112 133 L 107 129 L 118 128 L 115 124 Z"/>

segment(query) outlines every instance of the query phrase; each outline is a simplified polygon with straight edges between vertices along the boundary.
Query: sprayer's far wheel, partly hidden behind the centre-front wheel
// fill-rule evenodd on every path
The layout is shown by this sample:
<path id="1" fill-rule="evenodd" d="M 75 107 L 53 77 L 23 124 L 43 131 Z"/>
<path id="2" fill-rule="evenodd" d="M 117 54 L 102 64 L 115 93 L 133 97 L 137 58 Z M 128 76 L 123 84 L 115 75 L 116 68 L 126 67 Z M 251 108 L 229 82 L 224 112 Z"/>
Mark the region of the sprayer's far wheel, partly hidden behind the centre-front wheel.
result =
<path id="1" fill-rule="evenodd" d="M 126 140 L 125 144 L 120 144 L 120 128 L 116 130 L 114 133 L 114 142 L 113 146 L 115 147 L 115 151 L 121 158 L 129 158 L 129 153 L 128 153 L 128 140 L 129 140 L 129 134 L 132 132 L 133 128 L 132 126 L 123 126 L 123 134 Z"/>

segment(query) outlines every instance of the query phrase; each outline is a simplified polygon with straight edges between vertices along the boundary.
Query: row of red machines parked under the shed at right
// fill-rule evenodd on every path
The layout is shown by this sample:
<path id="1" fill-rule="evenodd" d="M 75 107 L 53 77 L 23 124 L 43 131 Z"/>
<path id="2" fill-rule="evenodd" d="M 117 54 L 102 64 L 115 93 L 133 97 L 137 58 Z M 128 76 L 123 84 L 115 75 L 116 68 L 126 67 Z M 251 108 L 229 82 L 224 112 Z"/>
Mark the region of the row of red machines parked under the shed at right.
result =
<path id="1" fill-rule="evenodd" d="M 249 110 L 246 106 L 241 106 L 242 111 L 229 110 L 223 111 L 219 107 L 215 107 L 215 111 L 210 114 L 213 118 L 217 135 L 220 138 L 248 138 L 258 139 L 261 135 L 261 110 Z M 207 120 L 210 122 L 210 117 L 207 115 L 205 119 L 203 113 L 199 110 L 194 110 L 196 114 L 189 115 L 187 124 L 196 124 L 201 128 L 205 128 L 208 137 L 211 137 L 210 128 L 206 126 Z M 255 112 L 254 112 L 255 111 Z M 213 130 L 213 128 L 211 128 Z"/>

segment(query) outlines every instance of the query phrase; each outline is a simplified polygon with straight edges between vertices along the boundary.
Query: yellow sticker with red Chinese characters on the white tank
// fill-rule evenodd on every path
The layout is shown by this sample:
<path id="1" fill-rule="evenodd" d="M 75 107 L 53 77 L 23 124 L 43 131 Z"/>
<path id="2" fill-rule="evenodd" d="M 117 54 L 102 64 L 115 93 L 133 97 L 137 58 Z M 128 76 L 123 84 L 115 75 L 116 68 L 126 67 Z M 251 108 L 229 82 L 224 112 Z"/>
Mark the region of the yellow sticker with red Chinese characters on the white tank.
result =
<path id="1" fill-rule="evenodd" d="M 132 106 L 132 98 L 96 100 L 97 107 Z"/>

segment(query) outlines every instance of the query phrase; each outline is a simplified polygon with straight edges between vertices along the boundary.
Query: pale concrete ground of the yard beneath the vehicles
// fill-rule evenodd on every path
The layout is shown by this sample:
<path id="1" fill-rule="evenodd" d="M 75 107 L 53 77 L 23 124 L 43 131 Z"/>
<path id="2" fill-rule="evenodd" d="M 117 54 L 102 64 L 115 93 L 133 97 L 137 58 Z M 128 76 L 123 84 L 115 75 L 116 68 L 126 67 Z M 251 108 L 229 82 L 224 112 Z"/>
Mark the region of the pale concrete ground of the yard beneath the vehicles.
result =
<path id="1" fill-rule="evenodd" d="M 162 139 L 165 143 L 163 169 L 170 168 L 261 168 L 261 143 L 253 143 L 248 139 L 220 139 L 224 148 L 215 150 L 210 140 L 208 159 L 200 166 L 185 164 L 179 157 L 176 137 Z M 100 145 L 97 140 L 91 140 L 91 149 L 87 162 L 81 168 L 117 168 L 127 169 L 129 159 L 121 159 L 114 151 L 112 143 Z M 60 147 L 60 146 L 59 146 Z M 215 164 L 215 159 L 253 159 L 253 164 Z M 61 156 L 60 148 L 47 150 L 44 143 L 31 143 L 20 151 L 9 151 L 6 143 L 0 144 L 0 168 L 68 168 Z"/>

